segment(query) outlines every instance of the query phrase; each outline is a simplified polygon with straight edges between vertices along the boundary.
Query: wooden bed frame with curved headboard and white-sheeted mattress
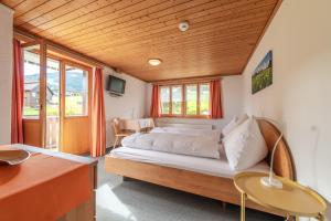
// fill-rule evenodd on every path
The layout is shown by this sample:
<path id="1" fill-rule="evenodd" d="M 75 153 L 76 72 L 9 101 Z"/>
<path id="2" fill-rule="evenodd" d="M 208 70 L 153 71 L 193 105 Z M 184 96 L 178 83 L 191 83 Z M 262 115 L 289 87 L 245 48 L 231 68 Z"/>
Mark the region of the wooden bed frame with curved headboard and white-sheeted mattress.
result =
<path id="1" fill-rule="evenodd" d="M 269 122 L 258 119 L 261 135 L 267 144 L 269 154 L 279 131 Z M 268 172 L 269 155 L 254 171 Z M 226 159 L 220 160 L 183 156 L 167 152 L 156 154 L 152 150 L 137 150 L 121 147 L 106 156 L 105 167 L 108 172 L 126 178 L 142 180 L 177 190 L 212 198 L 222 202 L 241 203 L 241 196 L 235 189 L 233 177 L 237 172 L 228 169 Z M 281 139 L 275 154 L 274 172 L 278 176 L 295 180 L 295 169 L 291 154 L 285 139 Z M 265 209 L 247 201 L 247 207 L 278 215 L 278 211 Z"/>

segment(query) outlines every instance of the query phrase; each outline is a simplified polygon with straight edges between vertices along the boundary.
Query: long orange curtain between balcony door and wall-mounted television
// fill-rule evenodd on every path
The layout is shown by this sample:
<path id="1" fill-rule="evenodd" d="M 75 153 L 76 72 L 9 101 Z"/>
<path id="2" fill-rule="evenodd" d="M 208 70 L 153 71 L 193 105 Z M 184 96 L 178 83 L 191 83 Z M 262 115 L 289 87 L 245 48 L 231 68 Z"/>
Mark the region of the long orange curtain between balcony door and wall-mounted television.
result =
<path id="1" fill-rule="evenodd" d="M 90 156 L 106 154 L 106 116 L 104 103 L 104 73 L 95 69 L 92 90 L 92 144 Z"/>

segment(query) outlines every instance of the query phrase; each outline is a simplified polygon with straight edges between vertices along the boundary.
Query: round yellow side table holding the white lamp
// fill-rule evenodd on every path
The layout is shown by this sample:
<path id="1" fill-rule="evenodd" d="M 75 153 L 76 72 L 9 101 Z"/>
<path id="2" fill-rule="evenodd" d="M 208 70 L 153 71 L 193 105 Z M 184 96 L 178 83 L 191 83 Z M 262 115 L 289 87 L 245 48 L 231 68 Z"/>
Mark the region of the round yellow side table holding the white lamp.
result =
<path id="1" fill-rule="evenodd" d="M 282 188 L 265 187 L 260 183 L 264 172 L 242 172 L 234 177 L 234 183 L 242 194 L 241 220 L 245 221 L 245 200 L 249 199 L 267 209 L 280 211 L 287 218 L 299 217 L 324 220 L 327 203 L 316 191 L 292 180 L 276 177 L 282 182 Z"/>

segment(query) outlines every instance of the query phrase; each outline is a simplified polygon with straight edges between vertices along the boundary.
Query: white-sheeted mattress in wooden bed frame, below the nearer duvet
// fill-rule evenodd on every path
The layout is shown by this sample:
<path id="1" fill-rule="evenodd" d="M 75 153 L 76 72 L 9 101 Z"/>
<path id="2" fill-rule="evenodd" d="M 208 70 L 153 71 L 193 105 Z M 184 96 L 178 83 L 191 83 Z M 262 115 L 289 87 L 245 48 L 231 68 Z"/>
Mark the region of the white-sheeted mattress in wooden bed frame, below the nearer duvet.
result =
<path id="1" fill-rule="evenodd" d="M 269 166 L 266 161 L 261 161 L 254 167 L 242 171 L 232 170 L 226 157 L 223 154 L 221 155 L 220 159 L 212 159 L 154 150 L 119 147 L 111 150 L 109 155 L 116 158 L 154 164 L 224 178 L 233 178 L 236 173 L 242 171 L 269 171 Z"/>

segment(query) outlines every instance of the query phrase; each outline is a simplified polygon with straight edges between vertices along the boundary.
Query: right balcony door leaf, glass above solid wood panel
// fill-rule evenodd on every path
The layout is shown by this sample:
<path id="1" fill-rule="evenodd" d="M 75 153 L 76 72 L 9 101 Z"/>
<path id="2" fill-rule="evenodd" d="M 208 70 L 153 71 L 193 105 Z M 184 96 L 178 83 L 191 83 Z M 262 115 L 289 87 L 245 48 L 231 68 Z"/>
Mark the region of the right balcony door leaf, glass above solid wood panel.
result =
<path id="1" fill-rule="evenodd" d="M 92 69 L 65 61 L 62 70 L 61 150 L 70 154 L 88 152 Z"/>

